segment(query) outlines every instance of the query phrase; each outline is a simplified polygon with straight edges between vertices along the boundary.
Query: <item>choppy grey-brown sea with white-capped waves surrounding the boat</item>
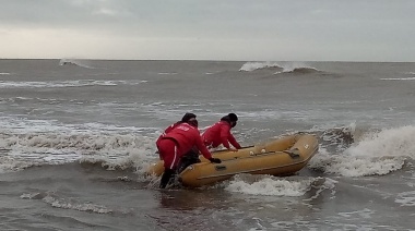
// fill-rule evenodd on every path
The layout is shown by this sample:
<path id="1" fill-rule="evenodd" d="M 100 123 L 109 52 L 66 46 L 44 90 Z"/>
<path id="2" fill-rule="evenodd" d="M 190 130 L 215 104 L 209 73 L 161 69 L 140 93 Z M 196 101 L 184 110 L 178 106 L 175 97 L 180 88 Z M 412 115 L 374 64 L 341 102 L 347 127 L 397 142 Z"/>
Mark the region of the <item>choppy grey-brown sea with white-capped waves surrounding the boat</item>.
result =
<path id="1" fill-rule="evenodd" d="M 0 230 L 415 230 L 415 63 L 0 60 Z M 297 174 L 158 190 L 155 139 L 235 112 Z"/>

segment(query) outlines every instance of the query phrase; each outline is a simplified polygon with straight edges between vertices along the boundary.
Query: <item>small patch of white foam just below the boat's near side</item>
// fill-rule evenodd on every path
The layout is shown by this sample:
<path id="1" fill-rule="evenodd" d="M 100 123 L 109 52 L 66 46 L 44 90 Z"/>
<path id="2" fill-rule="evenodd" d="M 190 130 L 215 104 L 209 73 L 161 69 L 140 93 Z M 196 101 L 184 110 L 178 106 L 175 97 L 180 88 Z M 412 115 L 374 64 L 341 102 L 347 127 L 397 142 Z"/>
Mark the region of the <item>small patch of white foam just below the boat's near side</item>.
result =
<path id="1" fill-rule="evenodd" d="M 252 178 L 256 178 L 252 182 Z M 301 196 L 316 179 L 289 179 L 271 175 L 235 175 L 225 187 L 229 192 L 264 196 Z"/>

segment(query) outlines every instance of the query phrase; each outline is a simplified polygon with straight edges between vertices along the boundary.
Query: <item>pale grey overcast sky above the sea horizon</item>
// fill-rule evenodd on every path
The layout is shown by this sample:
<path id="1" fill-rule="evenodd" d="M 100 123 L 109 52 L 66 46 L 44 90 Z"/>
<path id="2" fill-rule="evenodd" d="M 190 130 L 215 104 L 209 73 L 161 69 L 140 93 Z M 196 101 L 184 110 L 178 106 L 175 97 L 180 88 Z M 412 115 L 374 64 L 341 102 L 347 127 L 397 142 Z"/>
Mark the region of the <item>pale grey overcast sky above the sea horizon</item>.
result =
<path id="1" fill-rule="evenodd" d="M 415 0 L 0 0 L 0 58 L 415 61 Z"/>

